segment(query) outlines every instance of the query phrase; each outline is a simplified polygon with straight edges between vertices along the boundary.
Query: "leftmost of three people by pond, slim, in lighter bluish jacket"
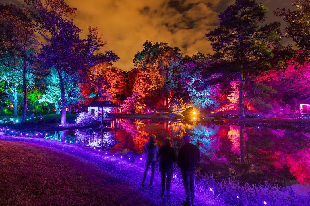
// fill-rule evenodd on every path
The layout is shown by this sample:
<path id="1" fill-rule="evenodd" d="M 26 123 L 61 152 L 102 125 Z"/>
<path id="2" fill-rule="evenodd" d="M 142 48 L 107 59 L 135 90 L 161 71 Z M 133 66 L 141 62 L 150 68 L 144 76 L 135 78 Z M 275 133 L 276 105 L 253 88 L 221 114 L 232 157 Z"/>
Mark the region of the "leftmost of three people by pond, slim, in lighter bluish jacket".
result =
<path id="1" fill-rule="evenodd" d="M 156 155 L 158 147 L 156 145 L 156 136 L 154 134 L 149 136 L 148 142 L 144 146 L 144 151 L 146 153 L 146 167 L 144 170 L 144 175 L 142 179 L 142 186 L 145 184 L 146 174 L 148 173 L 148 168 L 152 165 L 152 173 L 149 187 L 155 186 L 154 175 L 155 175 L 155 165 L 156 165 Z"/>

